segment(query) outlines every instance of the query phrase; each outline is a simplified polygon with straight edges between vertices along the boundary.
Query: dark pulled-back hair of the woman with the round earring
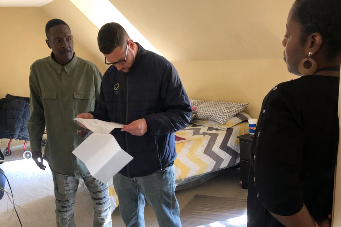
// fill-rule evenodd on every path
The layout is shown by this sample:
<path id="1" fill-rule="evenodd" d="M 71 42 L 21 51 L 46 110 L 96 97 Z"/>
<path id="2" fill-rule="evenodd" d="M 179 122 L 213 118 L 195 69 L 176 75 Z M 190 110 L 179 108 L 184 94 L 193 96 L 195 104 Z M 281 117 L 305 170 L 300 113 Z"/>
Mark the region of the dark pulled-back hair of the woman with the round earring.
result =
<path id="1" fill-rule="evenodd" d="M 301 42 L 322 35 L 329 60 L 341 54 L 341 0 L 296 0 L 293 17 L 301 25 Z"/>

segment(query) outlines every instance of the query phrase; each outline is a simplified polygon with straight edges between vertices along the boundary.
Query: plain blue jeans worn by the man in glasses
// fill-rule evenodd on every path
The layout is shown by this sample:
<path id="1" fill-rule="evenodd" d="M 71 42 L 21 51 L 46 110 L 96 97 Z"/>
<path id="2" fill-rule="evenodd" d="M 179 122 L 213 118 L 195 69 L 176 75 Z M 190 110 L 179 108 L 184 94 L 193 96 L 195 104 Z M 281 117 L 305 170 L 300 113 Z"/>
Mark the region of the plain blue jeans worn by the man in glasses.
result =
<path id="1" fill-rule="evenodd" d="M 154 210 L 159 226 L 181 227 L 180 208 L 175 197 L 173 166 L 144 177 L 113 177 L 120 213 L 127 227 L 144 227 L 145 199 Z"/>

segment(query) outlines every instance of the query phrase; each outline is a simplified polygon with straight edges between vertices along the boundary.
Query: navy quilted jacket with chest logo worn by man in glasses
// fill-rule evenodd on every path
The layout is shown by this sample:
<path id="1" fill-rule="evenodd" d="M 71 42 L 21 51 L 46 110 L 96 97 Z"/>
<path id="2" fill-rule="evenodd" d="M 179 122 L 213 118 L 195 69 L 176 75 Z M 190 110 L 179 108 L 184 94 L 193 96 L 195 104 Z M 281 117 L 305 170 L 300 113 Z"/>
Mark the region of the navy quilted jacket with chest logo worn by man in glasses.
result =
<path id="1" fill-rule="evenodd" d="M 129 124 L 144 118 L 148 130 L 134 136 L 115 128 L 112 135 L 134 159 L 120 173 L 150 175 L 172 166 L 177 156 L 174 132 L 186 127 L 192 107 L 175 67 L 139 45 L 129 73 L 110 66 L 103 75 L 96 119 Z"/>

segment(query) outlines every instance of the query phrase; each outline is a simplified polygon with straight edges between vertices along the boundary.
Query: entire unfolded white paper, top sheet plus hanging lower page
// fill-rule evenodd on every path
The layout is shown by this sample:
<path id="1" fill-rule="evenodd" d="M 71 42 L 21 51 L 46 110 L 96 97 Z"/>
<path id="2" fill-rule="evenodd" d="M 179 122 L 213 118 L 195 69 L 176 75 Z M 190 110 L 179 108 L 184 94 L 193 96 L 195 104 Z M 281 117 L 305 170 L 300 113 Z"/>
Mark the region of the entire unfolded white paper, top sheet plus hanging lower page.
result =
<path id="1" fill-rule="evenodd" d="M 80 121 L 79 118 L 76 118 L 75 120 L 93 132 L 72 153 L 86 165 L 94 178 L 107 182 L 133 159 L 131 155 L 121 149 L 115 137 L 109 134 L 116 127 L 122 128 L 120 124 L 94 121 L 97 119 L 81 119 L 85 121 Z"/>

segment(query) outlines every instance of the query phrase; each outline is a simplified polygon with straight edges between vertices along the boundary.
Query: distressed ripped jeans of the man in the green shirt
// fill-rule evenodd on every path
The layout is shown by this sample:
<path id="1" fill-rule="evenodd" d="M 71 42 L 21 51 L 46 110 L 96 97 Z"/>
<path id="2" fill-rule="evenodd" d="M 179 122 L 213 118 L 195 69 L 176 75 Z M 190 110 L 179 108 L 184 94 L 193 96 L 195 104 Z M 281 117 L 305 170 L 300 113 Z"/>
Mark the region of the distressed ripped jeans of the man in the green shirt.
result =
<path id="1" fill-rule="evenodd" d="M 73 215 L 79 180 L 75 177 L 52 171 L 56 197 L 57 227 L 75 227 Z M 107 183 L 93 178 L 90 174 L 82 177 L 92 199 L 94 227 L 112 227 L 111 207 Z"/>

